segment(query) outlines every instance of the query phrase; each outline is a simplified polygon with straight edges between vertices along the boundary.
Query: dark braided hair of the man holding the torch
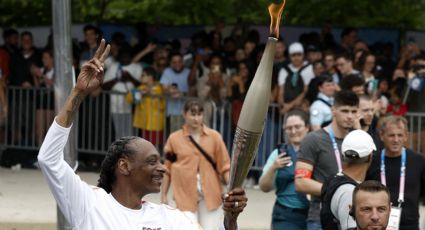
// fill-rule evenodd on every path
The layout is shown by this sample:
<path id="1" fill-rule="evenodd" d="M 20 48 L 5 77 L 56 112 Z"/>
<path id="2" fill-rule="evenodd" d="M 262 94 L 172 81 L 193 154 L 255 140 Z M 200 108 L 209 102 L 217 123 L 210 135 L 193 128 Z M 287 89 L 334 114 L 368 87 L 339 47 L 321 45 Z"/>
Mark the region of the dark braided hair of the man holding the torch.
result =
<path id="1" fill-rule="evenodd" d="M 98 187 L 103 188 L 107 193 L 112 191 L 112 185 L 116 180 L 115 168 L 118 160 L 123 156 L 129 156 L 134 153 L 134 150 L 128 148 L 127 144 L 137 138 L 139 137 L 121 137 L 109 146 L 108 153 L 100 167 L 100 176 L 97 184 Z"/>

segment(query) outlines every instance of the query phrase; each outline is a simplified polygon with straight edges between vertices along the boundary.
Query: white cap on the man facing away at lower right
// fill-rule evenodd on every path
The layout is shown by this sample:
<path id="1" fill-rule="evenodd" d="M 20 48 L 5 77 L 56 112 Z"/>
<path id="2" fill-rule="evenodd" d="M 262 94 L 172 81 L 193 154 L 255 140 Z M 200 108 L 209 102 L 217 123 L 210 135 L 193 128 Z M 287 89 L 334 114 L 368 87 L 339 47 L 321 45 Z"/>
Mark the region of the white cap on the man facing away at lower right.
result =
<path id="1" fill-rule="evenodd" d="M 349 132 L 345 136 L 344 141 L 342 141 L 341 150 L 344 157 L 351 158 L 352 155 L 349 156 L 347 153 L 350 152 L 349 150 L 352 150 L 358 153 L 357 158 L 364 158 L 369 156 L 372 151 L 375 151 L 376 146 L 372 137 L 367 132 L 358 129 Z"/>

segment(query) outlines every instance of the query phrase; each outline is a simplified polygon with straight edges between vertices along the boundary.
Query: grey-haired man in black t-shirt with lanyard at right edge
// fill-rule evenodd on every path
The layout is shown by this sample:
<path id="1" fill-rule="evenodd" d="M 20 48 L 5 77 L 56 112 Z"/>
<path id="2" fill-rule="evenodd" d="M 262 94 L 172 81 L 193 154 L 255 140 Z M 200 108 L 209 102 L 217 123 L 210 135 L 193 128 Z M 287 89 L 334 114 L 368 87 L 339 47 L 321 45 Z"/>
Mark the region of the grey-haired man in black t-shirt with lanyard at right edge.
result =
<path id="1" fill-rule="evenodd" d="M 384 149 L 375 154 L 366 179 L 381 181 L 389 188 L 393 207 L 401 207 L 400 230 L 419 230 L 419 198 L 424 195 L 425 158 L 403 147 L 407 141 L 407 120 L 404 117 L 384 118 L 380 138 Z M 405 185 L 400 186 L 403 165 Z M 384 166 L 384 172 L 381 172 L 381 166 Z M 404 190 L 404 196 L 400 196 L 400 190 Z M 400 199 L 404 201 L 400 202 Z"/>

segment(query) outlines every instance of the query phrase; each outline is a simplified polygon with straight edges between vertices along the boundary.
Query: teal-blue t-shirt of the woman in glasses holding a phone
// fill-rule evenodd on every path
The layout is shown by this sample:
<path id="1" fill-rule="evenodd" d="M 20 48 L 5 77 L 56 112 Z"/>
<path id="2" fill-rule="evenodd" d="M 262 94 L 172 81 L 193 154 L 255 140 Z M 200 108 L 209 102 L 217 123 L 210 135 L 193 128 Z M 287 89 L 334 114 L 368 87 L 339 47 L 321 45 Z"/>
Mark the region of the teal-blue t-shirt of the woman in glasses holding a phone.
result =
<path id="1" fill-rule="evenodd" d="M 276 189 L 277 202 L 289 208 L 308 208 L 307 197 L 303 193 L 295 191 L 294 172 L 295 162 L 297 161 L 297 153 L 295 152 L 292 145 L 287 145 L 287 153 L 291 157 L 292 165 L 285 166 L 276 171 L 273 186 Z M 280 154 L 279 149 L 273 150 L 264 165 L 262 175 L 263 176 L 273 165 L 273 162 L 277 159 Z"/>

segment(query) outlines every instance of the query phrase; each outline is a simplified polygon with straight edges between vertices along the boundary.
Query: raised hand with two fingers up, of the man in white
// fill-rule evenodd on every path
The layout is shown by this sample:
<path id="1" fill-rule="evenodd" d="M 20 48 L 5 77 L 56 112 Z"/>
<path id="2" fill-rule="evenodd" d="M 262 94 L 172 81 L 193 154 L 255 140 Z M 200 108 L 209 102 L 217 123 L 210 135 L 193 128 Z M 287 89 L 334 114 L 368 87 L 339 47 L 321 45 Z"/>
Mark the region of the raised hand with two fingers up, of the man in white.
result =
<path id="1" fill-rule="evenodd" d="M 102 39 L 93 58 L 81 67 L 75 89 L 87 95 L 102 85 L 103 66 L 109 50 L 110 46 L 106 45 L 105 39 Z"/>

